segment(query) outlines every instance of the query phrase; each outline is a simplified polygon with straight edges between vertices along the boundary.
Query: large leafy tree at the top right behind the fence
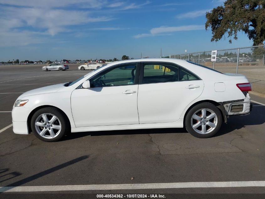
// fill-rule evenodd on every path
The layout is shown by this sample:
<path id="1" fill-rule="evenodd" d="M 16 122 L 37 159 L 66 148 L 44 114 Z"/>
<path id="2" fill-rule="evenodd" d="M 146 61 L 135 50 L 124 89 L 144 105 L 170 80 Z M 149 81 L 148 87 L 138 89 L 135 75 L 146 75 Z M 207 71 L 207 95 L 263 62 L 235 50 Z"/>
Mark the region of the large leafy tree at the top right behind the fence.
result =
<path id="1" fill-rule="evenodd" d="M 226 0 L 206 13 L 205 29 L 212 30 L 211 41 L 219 41 L 226 33 L 237 40 L 237 32 L 243 31 L 253 40 L 253 46 L 263 45 L 265 40 L 265 1 Z M 229 43 L 232 43 L 231 39 Z"/>

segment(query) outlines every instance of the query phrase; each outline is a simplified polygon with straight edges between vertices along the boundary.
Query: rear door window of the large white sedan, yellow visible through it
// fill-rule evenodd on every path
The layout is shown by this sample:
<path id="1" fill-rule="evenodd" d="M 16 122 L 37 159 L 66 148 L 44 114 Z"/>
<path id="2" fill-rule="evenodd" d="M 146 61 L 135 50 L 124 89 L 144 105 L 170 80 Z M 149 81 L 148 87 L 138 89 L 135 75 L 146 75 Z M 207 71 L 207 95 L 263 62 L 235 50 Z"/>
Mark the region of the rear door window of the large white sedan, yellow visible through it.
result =
<path id="1" fill-rule="evenodd" d="M 167 63 L 145 63 L 143 83 L 178 81 L 178 66 Z"/>

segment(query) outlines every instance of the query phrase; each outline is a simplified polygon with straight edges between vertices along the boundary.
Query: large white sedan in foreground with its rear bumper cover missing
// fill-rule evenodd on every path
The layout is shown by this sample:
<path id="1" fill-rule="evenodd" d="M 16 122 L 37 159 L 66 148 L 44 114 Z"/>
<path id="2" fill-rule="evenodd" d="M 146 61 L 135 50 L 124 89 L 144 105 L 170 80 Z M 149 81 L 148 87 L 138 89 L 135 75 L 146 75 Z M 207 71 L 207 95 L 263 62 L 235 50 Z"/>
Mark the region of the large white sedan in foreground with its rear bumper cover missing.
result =
<path id="1" fill-rule="evenodd" d="M 248 91 L 244 75 L 185 60 L 123 60 L 74 82 L 23 93 L 13 106 L 13 131 L 58 141 L 67 132 L 185 126 L 208 138 L 228 115 L 250 113 Z"/>

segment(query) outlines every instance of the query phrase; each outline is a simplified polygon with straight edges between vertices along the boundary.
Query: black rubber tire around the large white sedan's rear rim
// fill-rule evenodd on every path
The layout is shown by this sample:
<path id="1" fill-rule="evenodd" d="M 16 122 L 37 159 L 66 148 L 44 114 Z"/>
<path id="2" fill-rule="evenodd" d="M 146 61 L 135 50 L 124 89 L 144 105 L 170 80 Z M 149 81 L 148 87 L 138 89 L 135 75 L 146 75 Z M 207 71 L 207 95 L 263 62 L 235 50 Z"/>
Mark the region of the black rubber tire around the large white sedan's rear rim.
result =
<path id="1" fill-rule="evenodd" d="M 214 128 L 214 129 L 211 129 L 211 127 L 207 125 L 208 120 L 202 118 L 203 120 L 200 122 L 201 127 L 198 127 L 198 128 L 202 128 L 202 125 L 203 125 L 203 124 L 204 124 L 204 125 L 206 124 L 206 125 L 205 125 L 205 128 L 206 128 L 206 130 L 207 130 L 207 128 L 208 128 L 209 133 L 200 134 L 200 133 L 196 132 L 196 131 L 193 129 L 193 127 L 192 127 L 192 122 L 193 122 L 194 120 L 195 120 L 195 122 L 196 122 L 196 119 L 193 119 L 193 121 L 192 121 L 192 117 L 193 117 L 193 114 L 195 114 L 196 112 L 198 112 L 200 109 L 204 109 L 204 108 L 206 108 L 206 109 L 210 109 L 210 110 L 212 110 L 212 111 L 216 114 L 216 117 L 213 118 L 213 120 L 214 120 L 214 122 L 216 122 L 217 124 L 215 125 L 215 128 Z M 199 113 L 199 112 L 198 112 L 198 113 Z M 206 113 L 209 114 L 209 111 L 207 110 Z M 206 114 L 206 115 L 207 115 L 207 114 Z M 209 115 L 208 115 L 208 116 L 209 116 Z M 206 117 L 208 117 L 208 116 L 206 116 Z M 206 121 L 204 121 L 204 120 L 206 120 Z M 212 120 L 212 119 L 209 119 L 209 120 Z M 212 120 L 212 121 L 213 121 L 213 120 Z M 199 120 L 197 120 L 197 121 L 198 121 L 198 123 L 199 123 Z M 205 123 L 203 123 L 203 121 L 204 121 Z M 220 110 L 219 110 L 215 105 L 213 105 L 213 104 L 211 104 L 211 103 L 207 103 L 207 102 L 204 102 L 204 103 L 200 103 L 200 104 L 195 105 L 193 108 L 191 108 L 191 109 L 189 110 L 189 112 L 187 113 L 186 118 L 185 118 L 185 126 L 186 126 L 187 131 L 188 131 L 191 135 L 193 135 L 193 136 L 195 136 L 195 137 L 198 137 L 198 138 L 209 138 L 209 137 L 212 137 L 213 135 L 215 135 L 215 134 L 218 132 L 218 130 L 220 129 L 220 127 L 221 127 L 221 125 L 222 125 L 222 122 L 223 122 L 223 119 L 222 119 L 222 114 L 221 114 Z M 198 130 L 198 129 L 196 129 L 196 130 Z M 202 131 L 202 129 L 201 129 L 201 131 Z"/>

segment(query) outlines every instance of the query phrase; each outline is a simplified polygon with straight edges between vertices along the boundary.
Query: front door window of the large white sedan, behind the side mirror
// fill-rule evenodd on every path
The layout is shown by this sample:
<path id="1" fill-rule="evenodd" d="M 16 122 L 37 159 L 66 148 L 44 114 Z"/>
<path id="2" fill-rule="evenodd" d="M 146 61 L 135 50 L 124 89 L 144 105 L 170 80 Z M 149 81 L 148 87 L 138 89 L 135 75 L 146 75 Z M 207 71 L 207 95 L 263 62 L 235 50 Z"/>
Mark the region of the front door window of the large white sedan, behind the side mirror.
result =
<path id="1" fill-rule="evenodd" d="M 123 86 L 135 84 L 137 63 L 122 64 L 107 69 L 90 79 L 90 87 Z"/>

